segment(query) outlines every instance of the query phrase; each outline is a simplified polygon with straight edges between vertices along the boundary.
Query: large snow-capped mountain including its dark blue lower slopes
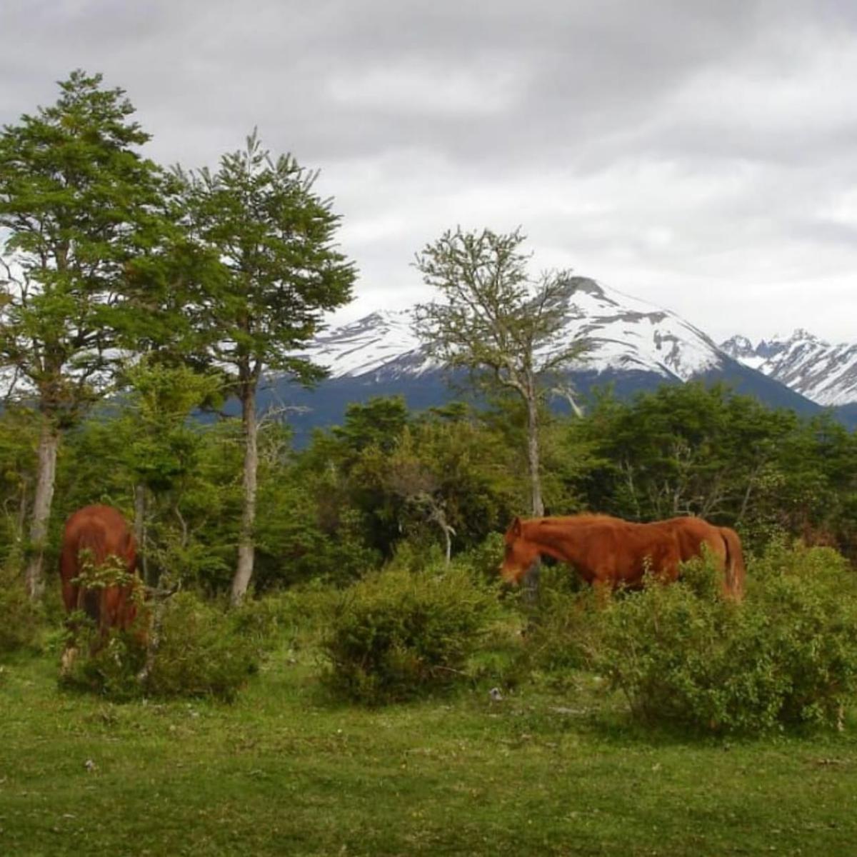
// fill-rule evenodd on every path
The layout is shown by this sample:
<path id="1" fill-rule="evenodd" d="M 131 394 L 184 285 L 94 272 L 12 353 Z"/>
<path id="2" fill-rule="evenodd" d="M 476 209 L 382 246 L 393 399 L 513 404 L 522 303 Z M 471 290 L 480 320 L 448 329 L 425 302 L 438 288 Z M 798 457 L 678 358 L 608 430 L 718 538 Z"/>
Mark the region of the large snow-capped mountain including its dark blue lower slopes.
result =
<path id="1" fill-rule="evenodd" d="M 578 338 L 586 339 L 590 350 L 567 373 L 584 403 L 596 387 L 605 385 L 610 385 L 622 399 L 654 390 L 663 383 L 698 378 L 726 381 L 739 393 L 754 395 L 772 407 L 791 408 L 804 415 L 821 410 L 800 393 L 752 369 L 752 361 L 760 359 L 761 346 L 743 342 L 741 360 L 735 359 L 698 327 L 668 309 L 595 280 L 570 279 L 562 309 L 565 323 L 560 335 L 536 357 L 549 357 L 554 349 L 564 349 Z M 462 390 L 449 386 L 440 366 L 417 339 L 414 316 L 413 309 L 380 310 L 322 333 L 301 354 L 327 367 L 330 377 L 313 390 L 304 390 L 287 377 L 272 379 L 273 383 L 260 394 L 261 407 L 291 407 L 290 423 L 301 444 L 312 428 L 342 423 L 349 405 L 372 396 L 404 396 L 415 411 L 460 397 Z M 736 339 L 730 350 L 738 345 Z M 554 401 L 560 410 L 567 404 L 560 399 Z M 853 425 L 857 412 L 843 414 L 842 418 Z"/>

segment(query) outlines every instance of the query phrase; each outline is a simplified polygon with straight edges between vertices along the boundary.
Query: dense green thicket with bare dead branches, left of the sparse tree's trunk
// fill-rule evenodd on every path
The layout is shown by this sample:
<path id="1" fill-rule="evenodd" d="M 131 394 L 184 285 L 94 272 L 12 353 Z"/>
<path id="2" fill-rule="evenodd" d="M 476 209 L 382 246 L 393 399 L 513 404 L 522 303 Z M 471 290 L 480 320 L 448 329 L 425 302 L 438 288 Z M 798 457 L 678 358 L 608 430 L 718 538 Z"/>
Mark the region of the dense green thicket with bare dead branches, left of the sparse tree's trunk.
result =
<path id="1" fill-rule="evenodd" d="M 466 550 L 506 525 L 518 499 L 502 439 L 465 406 L 409 415 L 398 398 L 350 405 L 296 456 L 315 521 L 337 542 L 352 523 L 366 548 L 390 557 L 403 539 Z"/>

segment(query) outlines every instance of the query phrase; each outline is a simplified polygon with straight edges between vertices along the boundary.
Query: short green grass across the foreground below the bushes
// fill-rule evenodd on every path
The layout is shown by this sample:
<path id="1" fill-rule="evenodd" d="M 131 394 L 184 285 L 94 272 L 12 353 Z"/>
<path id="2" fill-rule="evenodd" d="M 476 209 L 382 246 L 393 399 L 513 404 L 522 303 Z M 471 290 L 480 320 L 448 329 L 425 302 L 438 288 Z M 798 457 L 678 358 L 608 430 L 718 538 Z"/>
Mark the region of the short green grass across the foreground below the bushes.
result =
<path id="1" fill-rule="evenodd" d="M 0 854 L 857 854 L 857 740 L 629 726 L 580 675 L 362 709 L 312 650 L 231 705 L 114 705 L 0 673 Z"/>

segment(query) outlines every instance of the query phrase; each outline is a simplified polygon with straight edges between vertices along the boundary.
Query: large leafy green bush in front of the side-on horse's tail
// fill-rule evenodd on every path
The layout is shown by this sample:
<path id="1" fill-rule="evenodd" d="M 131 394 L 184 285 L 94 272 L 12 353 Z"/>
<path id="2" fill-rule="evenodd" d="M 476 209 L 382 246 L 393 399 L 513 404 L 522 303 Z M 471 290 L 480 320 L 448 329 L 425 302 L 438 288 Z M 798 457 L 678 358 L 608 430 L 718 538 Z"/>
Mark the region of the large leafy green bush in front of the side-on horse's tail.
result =
<path id="1" fill-rule="evenodd" d="M 840 721 L 857 687 L 854 573 L 829 548 L 777 542 L 748 579 L 736 604 L 697 562 L 604 611 L 593 665 L 634 716 L 743 732 Z"/>

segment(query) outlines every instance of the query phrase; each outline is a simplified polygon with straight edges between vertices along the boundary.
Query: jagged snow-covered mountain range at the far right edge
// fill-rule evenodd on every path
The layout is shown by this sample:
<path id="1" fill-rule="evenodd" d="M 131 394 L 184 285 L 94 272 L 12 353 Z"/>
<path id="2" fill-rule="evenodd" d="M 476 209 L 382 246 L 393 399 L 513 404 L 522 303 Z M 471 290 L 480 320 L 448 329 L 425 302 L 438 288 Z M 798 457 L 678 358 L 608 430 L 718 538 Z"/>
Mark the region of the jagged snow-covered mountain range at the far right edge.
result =
<path id="1" fill-rule="evenodd" d="M 753 345 L 734 336 L 721 346 L 730 357 L 780 381 L 818 405 L 857 402 L 857 344 L 831 345 L 805 330 Z"/>

